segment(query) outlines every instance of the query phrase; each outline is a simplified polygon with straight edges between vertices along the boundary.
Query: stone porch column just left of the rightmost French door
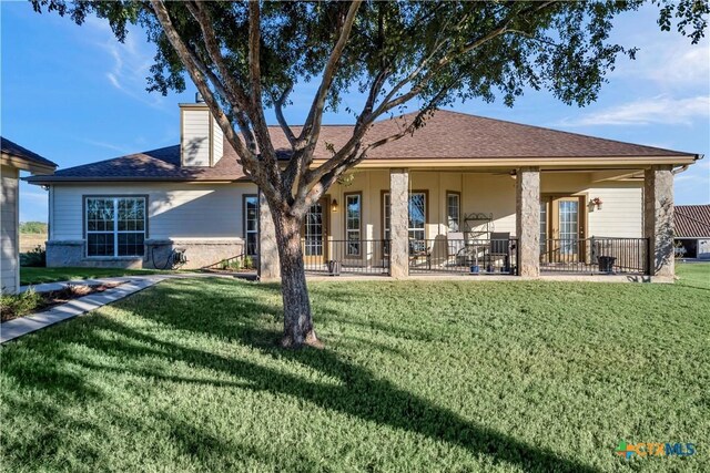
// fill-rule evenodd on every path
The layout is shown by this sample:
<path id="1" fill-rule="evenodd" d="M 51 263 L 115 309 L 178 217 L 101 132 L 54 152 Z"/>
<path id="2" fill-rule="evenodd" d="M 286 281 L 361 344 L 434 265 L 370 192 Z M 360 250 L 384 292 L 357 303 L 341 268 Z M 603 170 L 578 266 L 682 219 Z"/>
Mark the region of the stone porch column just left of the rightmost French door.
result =
<path id="1" fill-rule="evenodd" d="M 520 276 L 540 276 L 540 168 L 520 167 L 516 178 L 516 236 Z"/>

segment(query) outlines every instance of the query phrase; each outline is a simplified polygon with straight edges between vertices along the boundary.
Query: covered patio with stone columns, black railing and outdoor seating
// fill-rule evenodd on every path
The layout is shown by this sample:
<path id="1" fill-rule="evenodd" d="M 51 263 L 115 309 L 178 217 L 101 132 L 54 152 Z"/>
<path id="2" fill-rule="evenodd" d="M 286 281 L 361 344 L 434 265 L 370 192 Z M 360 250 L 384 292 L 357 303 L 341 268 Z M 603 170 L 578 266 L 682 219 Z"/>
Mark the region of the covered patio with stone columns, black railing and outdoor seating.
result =
<path id="1" fill-rule="evenodd" d="M 306 216 L 304 264 L 395 278 L 667 277 L 670 215 L 670 165 L 356 169 Z"/>

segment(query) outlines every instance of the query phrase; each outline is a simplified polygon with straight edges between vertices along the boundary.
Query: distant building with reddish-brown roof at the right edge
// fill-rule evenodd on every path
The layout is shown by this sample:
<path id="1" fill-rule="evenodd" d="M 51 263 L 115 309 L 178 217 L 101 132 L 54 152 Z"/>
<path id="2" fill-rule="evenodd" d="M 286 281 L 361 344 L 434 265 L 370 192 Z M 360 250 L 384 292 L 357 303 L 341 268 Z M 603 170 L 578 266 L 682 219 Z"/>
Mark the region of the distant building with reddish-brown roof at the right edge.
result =
<path id="1" fill-rule="evenodd" d="M 677 205 L 676 245 L 684 258 L 710 258 L 710 205 Z"/>

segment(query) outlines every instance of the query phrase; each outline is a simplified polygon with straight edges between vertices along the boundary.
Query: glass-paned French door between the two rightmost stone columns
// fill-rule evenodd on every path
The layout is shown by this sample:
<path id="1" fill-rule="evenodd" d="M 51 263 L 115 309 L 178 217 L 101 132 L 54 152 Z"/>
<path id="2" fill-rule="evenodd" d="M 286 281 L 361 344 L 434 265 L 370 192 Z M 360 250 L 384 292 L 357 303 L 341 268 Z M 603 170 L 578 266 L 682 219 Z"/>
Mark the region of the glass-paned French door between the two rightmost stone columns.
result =
<path id="1" fill-rule="evenodd" d="M 540 258 L 544 263 L 586 259 L 586 198 L 546 196 L 540 202 Z"/>

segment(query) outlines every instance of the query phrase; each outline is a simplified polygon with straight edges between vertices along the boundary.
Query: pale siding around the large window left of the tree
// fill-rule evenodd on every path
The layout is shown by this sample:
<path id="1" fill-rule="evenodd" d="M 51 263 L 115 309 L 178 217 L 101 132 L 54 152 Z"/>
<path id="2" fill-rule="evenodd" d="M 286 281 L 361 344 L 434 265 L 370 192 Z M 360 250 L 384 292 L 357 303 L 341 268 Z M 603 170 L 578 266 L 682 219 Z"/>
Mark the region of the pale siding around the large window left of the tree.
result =
<path id="1" fill-rule="evenodd" d="M 243 195 L 253 184 L 55 185 L 52 240 L 83 239 L 83 195 L 148 195 L 149 238 L 243 237 Z"/>

